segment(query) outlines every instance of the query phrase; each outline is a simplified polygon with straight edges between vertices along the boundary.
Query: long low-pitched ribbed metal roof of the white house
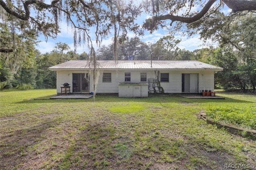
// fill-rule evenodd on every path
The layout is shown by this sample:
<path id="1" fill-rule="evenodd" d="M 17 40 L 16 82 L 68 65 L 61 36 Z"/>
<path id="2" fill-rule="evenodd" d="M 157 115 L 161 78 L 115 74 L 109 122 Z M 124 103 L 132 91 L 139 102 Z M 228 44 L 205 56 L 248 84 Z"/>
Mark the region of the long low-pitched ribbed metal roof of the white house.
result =
<path id="1" fill-rule="evenodd" d="M 152 67 L 150 60 L 98 60 L 98 68 L 101 70 L 122 70 L 122 69 L 136 69 L 136 70 L 202 70 L 210 69 L 213 71 L 222 71 L 223 68 L 203 63 L 200 61 L 170 61 L 170 60 L 153 60 Z M 52 71 L 57 70 L 84 70 L 93 68 L 93 64 L 88 60 L 70 60 L 50 67 Z"/>

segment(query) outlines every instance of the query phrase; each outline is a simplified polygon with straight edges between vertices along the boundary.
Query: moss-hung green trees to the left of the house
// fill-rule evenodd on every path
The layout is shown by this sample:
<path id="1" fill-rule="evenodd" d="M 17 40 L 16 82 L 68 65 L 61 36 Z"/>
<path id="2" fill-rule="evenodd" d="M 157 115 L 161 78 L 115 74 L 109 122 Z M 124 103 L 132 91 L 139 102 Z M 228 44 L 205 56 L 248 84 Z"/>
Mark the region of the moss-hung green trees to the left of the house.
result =
<path id="1" fill-rule="evenodd" d="M 0 53 L 0 89 L 56 88 L 56 73 L 48 67 L 72 59 L 88 59 L 87 53 L 76 54 L 66 43 L 57 43 L 50 53 L 41 54 L 35 47 L 34 34 L 15 34 L 0 23 L 1 47 L 13 47 L 12 53 Z M 13 45 L 15 43 L 15 45 Z"/>

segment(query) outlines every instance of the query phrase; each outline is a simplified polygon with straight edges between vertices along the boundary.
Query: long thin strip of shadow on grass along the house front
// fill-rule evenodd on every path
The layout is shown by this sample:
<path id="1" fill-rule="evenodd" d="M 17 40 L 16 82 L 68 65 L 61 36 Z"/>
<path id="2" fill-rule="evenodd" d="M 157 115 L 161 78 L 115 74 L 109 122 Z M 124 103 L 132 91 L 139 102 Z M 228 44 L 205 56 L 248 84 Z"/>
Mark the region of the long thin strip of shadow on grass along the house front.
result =
<path id="1" fill-rule="evenodd" d="M 180 97 L 180 95 L 156 95 L 149 96 L 146 98 L 124 98 L 118 97 L 117 95 L 99 95 L 96 96 L 95 99 L 92 97 L 89 99 L 50 99 L 52 95 L 44 96 L 40 98 L 34 98 L 30 100 L 24 100 L 16 103 L 77 103 L 77 102 L 147 102 L 147 103 L 255 103 L 252 101 L 246 101 L 241 99 L 232 99 L 225 97 L 225 99 L 186 99 L 184 97 Z"/>

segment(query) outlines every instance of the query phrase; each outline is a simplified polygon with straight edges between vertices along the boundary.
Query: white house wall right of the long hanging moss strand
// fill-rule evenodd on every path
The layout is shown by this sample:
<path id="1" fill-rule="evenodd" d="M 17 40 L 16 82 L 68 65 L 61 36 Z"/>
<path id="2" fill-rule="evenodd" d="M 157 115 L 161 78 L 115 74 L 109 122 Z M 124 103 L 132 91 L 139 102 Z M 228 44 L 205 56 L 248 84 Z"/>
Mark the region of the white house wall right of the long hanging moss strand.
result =
<path id="1" fill-rule="evenodd" d="M 111 73 L 111 83 L 102 82 L 102 73 L 99 76 L 97 93 L 118 93 L 118 84 L 124 83 L 124 73 L 131 73 L 132 83 L 143 83 L 140 81 L 140 73 L 147 73 L 149 78 L 156 78 L 155 71 L 103 71 Z M 169 82 L 161 82 L 165 93 L 182 93 L 182 73 L 198 74 L 198 92 L 214 89 L 214 71 L 159 71 L 159 73 L 169 73 Z M 160 76 L 159 76 L 160 79 Z M 92 86 L 91 86 L 92 87 Z"/>

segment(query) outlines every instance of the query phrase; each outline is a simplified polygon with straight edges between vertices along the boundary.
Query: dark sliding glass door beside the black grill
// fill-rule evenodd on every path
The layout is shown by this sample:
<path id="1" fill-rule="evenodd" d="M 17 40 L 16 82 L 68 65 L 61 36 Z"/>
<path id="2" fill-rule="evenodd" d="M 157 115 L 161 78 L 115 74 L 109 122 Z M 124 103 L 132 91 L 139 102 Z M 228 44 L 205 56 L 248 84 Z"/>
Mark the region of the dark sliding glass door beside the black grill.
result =
<path id="1" fill-rule="evenodd" d="M 73 73 L 73 93 L 90 92 L 89 87 L 90 83 L 88 73 Z"/>

